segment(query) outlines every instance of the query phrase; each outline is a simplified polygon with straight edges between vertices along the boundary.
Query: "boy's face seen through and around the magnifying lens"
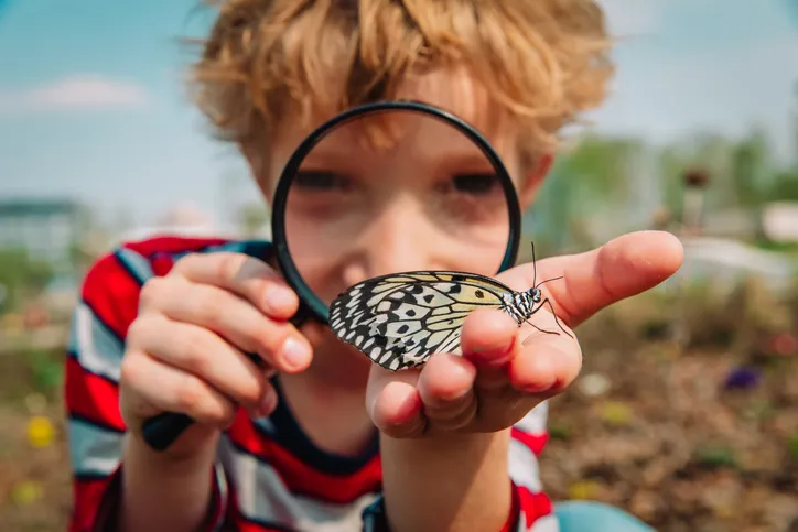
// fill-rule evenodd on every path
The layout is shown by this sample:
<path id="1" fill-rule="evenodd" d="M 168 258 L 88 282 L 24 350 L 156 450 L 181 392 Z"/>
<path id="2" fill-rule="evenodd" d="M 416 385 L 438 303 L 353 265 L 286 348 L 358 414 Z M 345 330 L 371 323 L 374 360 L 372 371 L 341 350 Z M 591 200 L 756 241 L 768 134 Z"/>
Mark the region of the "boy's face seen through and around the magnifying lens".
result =
<path id="1" fill-rule="evenodd" d="M 503 159 L 521 207 L 528 206 L 547 164 L 521 167 L 522 139 L 490 113 L 467 77 L 431 74 L 408 84 L 401 97 L 442 107 L 474 124 Z M 428 116 L 388 118 L 349 122 L 326 137 L 305 159 L 289 195 L 291 254 L 305 282 L 326 302 L 385 273 L 435 269 L 492 275 L 504 256 L 507 206 L 479 149 Z M 387 145 L 367 142 L 364 133 L 375 121 L 398 135 Z M 287 123 L 276 135 L 268 175 L 259 178 L 269 200 L 282 167 L 308 133 Z"/>

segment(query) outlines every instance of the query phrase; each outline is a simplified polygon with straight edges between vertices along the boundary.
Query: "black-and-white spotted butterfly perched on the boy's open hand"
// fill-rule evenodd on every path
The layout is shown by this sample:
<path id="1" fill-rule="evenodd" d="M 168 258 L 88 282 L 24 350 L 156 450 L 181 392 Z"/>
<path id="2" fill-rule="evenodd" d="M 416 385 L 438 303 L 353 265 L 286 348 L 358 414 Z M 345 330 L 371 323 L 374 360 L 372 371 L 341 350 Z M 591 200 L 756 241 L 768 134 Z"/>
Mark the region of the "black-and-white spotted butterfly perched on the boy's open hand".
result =
<path id="1" fill-rule="evenodd" d="M 457 352 L 463 322 L 477 308 L 498 308 L 518 326 L 543 306 L 549 307 L 536 284 L 532 243 L 532 287 L 516 292 L 505 284 L 476 273 L 456 271 L 412 271 L 380 275 L 349 286 L 330 306 L 330 326 L 338 339 L 355 346 L 374 362 L 399 371 L 427 363 L 435 352 Z"/>

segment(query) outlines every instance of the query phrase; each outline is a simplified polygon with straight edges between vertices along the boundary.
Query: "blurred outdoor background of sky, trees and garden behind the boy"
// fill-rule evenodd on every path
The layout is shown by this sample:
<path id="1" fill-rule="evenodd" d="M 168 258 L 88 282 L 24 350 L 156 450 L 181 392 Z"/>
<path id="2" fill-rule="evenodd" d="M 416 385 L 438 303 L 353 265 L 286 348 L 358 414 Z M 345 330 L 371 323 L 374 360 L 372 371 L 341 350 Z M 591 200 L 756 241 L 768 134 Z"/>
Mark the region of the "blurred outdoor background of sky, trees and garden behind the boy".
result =
<path id="1" fill-rule="evenodd" d="M 578 330 L 544 484 L 661 531 L 798 530 L 798 1 L 602 3 L 613 94 L 524 241 L 540 258 L 657 228 L 686 262 Z M 211 21 L 194 8 L 0 0 L 0 530 L 65 528 L 60 387 L 86 268 L 154 231 L 268 237 L 181 86 L 179 39 Z"/>

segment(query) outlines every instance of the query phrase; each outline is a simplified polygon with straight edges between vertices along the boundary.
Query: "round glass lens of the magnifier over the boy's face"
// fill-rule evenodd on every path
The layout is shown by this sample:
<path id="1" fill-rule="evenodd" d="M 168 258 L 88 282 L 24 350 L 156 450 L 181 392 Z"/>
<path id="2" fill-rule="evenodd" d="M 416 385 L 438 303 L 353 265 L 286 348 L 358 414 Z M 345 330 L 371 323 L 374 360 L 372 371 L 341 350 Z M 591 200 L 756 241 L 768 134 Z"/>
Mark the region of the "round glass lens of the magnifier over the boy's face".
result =
<path id="1" fill-rule="evenodd" d="M 494 275 L 510 238 L 502 175 L 479 145 L 433 116 L 354 118 L 309 150 L 293 176 L 289 253 L 326 305 L 389 273 Z"/>

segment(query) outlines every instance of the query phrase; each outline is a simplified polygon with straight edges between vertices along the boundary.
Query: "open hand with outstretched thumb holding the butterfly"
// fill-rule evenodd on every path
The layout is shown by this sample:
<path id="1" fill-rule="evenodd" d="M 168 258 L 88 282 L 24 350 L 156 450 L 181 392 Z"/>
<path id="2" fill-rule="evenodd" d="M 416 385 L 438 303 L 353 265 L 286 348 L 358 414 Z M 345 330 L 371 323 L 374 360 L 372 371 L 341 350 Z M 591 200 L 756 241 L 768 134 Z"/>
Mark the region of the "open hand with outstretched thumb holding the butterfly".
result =
<path id="1" fill-rule="evenodd" d="M 574 328 L 606 306 L 661 283 L 681 265 L 679 240 L 661 231 L 624 235 L 592 251 L 539 260 L 537 280 L 560 321 Z M 496 276 L 514 290 L 532 285 L 531 263 Z M 535 324 L 559 330 L 546 308 Z M 495 432 L 563 391 L 582 367 L 575 337 L 518 327 L 496 310 L 475 311 L 463 325 L 463 356 L 433 356 L 421 370 L 371 368 L 367 404 L 386 434 L 423 437 L 452 431 Z"/>

